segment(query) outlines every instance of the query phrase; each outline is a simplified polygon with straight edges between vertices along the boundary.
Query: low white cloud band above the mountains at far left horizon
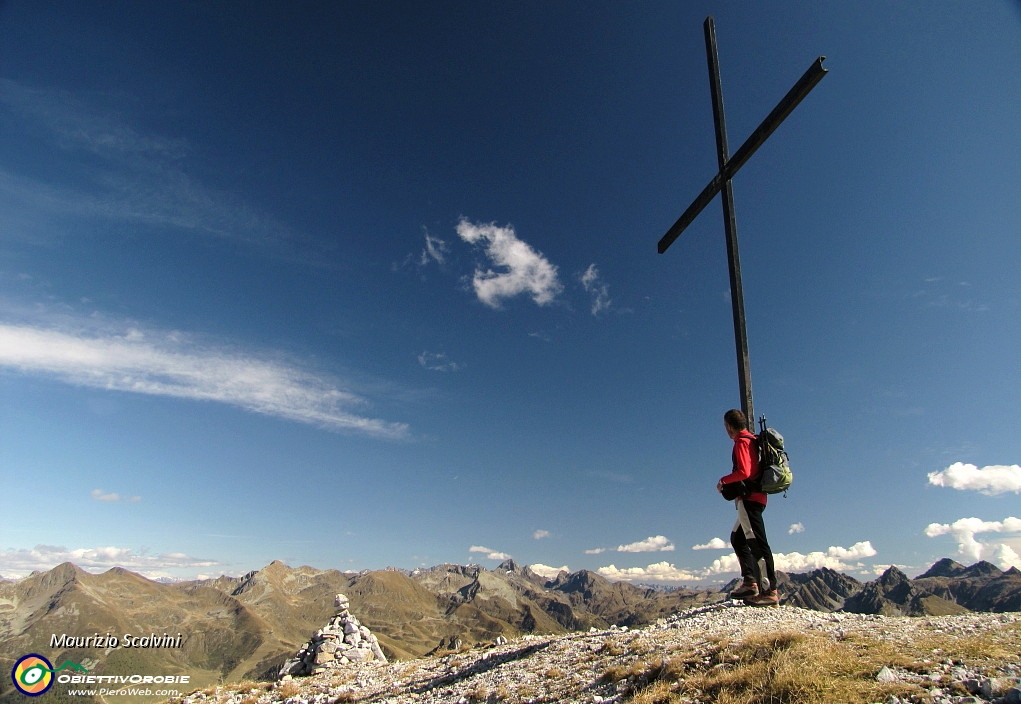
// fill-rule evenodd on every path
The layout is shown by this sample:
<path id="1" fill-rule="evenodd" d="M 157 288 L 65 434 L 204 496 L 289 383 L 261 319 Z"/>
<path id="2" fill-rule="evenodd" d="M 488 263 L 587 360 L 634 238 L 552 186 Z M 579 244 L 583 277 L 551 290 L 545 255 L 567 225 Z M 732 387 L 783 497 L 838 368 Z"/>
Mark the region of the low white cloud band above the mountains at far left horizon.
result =
<path id="1" fill-rule="evenodd" d="M 113 546 L 74 548 L 37 545 L 31 550 L 0 550 L 0 574 L 11 579 L 28 576 L 36 570 L 47 570 L 63 562 L 74 562 L 87 571 L 105 571 L 111 567 L 131 569 L 149 579 L 168 576 L 169 569 L 215 567 L 223 563 L 195 558 L 183 553 L 149 555 L 131 548 Z"/>

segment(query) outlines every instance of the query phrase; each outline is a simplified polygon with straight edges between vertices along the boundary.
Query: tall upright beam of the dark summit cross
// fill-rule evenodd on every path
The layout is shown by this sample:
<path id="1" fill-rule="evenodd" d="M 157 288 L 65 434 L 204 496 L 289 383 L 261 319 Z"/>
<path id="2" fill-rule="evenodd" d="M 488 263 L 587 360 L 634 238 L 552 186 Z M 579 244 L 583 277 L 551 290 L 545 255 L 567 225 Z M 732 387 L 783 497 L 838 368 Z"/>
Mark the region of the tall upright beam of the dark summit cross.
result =
<path id="1" fill-rule="evenodd" d="M 723 87 L 720 81 L 720 56 L 716 49 L 716 22 L 707 17 L 706 57 L 709 61 L 709 85 L 713 96 L 713 123 L 716 125 L 716 156 L 723 173 L 730 160 L 727 146 L 727 118 L 723 111 Z M 741 258 L 737 251 L 737 216 L 734 213 L 734 190 L 730 179 L 721 188 L 723 227 L 727 235 L 727 262 L 730 268 L 730 304 L 734 315 L 734 344 L 737 350 L 737 382 L 741 395 L 741 410 L 748 430 L 755 431 L 755 407 L 751 401 L 751 361 L 748 356 L 748 333 L 744 324 L 744 290 L 741 286 Z"/>

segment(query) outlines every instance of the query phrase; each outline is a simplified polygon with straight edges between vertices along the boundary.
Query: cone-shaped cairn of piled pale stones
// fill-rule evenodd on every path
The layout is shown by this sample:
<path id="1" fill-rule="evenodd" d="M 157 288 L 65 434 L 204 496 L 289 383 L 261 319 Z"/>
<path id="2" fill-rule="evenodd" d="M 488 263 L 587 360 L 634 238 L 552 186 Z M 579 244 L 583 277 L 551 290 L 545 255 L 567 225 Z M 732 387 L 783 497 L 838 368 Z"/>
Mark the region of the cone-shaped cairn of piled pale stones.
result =
<path id="1" fill-rule="evenodd" d="M 277 675 L 279 678 L 313 674 L 358 662 L 387 661 L 376 637 L 348 611 L 351 604 L 347 597 L 338 594 L 335 604 L 336 615 L 284 663 Z"/>

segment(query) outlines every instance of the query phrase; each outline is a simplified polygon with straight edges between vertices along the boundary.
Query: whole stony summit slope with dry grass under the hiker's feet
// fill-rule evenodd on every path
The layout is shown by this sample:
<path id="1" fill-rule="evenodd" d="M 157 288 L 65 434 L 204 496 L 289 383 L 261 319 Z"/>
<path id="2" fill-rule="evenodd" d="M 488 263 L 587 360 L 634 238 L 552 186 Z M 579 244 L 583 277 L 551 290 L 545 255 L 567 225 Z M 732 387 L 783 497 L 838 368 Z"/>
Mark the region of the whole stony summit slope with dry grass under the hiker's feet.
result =
<path id="1" fill-rule="evenodd" d="M 1018 704 L 1021 613 L 883 616 L 722 602 L 640 628 L 529 635 L 173 704 Z"/>

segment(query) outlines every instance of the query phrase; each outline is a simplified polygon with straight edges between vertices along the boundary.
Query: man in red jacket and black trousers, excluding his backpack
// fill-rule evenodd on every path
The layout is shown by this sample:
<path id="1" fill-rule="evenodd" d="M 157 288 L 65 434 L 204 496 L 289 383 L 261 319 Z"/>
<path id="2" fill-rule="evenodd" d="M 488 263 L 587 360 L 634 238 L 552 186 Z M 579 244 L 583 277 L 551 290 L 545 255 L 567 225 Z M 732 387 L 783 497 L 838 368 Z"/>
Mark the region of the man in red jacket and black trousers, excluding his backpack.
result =
<path id="1" fill-rule="evenodd" d="M 747 430 L 748 421 L 744 413 L 737 409 L 727 411 L 723 416 L 723 424 L 727 435 L 734 441 L 734 450 L 731 453 L 733 470 L 716 485 L 716 490 L 721 494 L 726 485 L 747 483 L 759 477 L 759 445 L 756 437 Z M 773 552 L 766 539 L 766 525 L 763 523 L 766 495 L 752 491 L 744 496 L 737 496 L 734 504 L 737 506 L 737 522 L 730 534 L 730 544 L 734 546 L 744 582 L 730 593 L 730 598 L 743 599 L 749 606 L 779 604 Z M 759 560 L 766 562 L 765 574 L 761 573 Z M 764 576 L 768 585 L 763 581 Z M 769 589 L 760 590 L 760 585 L 768 586 Z"/>

